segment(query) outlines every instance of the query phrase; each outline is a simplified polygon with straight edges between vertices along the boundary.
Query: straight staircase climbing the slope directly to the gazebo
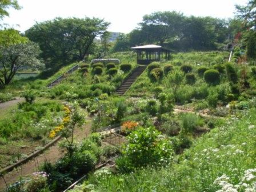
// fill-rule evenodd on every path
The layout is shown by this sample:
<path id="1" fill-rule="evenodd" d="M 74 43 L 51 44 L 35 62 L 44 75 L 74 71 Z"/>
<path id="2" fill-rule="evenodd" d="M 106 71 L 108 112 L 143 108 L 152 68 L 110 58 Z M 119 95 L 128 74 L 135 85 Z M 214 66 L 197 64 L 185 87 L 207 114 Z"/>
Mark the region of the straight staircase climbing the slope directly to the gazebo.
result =
<path id="1" fill-rule="evenodd" d="M 143 73 L 147 66 L 138 66 L 129 77 L 123 81 L 122 85 L 115 91 L 118 95 L 123 95 L 130 88 L 136 79 Z"/>

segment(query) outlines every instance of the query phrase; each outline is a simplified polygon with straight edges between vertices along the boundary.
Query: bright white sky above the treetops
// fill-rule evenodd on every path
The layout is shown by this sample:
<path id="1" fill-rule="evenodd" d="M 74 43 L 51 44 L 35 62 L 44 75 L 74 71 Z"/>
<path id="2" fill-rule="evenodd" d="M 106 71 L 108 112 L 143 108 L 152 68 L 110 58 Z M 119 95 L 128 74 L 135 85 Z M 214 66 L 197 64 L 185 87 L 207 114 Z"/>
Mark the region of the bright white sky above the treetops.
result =
<path id="1" fill-rule="evenodd" d="M 3 19 L 21 32 L 35 22 L 55 17 L 97 17 L 110 22 L 109 31 L 129 33 L 138 27 L 145 14 L 155 11 L 180 11 L 190 16 L 234 17 L 235 5 L 247 0 L 18 0 L 21 10 L 10 9 L 10 17 Z"/>

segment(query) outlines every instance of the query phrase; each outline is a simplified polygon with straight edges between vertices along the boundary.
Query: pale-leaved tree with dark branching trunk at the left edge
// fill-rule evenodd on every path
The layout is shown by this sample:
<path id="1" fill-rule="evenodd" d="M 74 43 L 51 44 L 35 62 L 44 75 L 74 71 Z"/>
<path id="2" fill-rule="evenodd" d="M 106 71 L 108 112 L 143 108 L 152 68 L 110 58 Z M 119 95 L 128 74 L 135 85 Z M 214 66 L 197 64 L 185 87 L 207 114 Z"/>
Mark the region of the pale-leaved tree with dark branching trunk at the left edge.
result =
<path id="1" fill-rule="evenodd" d="M 11 82 L 17 70 L 22 67 L 41 68 L 38 59 L 40 49 L 34 42 L 0 46 L 0 86 Z"/>

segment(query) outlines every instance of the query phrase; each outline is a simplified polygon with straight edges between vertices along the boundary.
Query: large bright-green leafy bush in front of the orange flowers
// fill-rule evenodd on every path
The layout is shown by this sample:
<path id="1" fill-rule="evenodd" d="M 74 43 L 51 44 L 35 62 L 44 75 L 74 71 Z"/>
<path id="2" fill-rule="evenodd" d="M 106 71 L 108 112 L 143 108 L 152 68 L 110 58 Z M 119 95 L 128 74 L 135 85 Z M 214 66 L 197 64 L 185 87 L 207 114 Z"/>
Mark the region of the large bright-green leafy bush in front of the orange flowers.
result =
<path id="1" fill-rule="evenodd" d="M 168 163 L 173 158 L 173 149 L 167 138 L 159 138 L 154 127 L 139 127 L 127 136 L 128 144 L 122 151 L 118 169 L 127 172 L 136 167 Z"/>

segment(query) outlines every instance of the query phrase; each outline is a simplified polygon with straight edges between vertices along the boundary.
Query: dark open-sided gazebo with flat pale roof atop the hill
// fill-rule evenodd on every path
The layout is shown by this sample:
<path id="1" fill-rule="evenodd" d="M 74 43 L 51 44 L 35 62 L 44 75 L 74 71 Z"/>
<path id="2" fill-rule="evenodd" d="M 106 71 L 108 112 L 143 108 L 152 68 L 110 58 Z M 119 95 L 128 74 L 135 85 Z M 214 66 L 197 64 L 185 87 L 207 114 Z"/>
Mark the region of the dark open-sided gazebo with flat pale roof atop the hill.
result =
<path id="1" fill-rule="evenodd" d="M 161 59 L 170 60 L 170 50 L 159 45 L 143 45 L 131 47 L 137 52 L 138 64 L 149 64 L 153 61 L 160 61 Z"/>

